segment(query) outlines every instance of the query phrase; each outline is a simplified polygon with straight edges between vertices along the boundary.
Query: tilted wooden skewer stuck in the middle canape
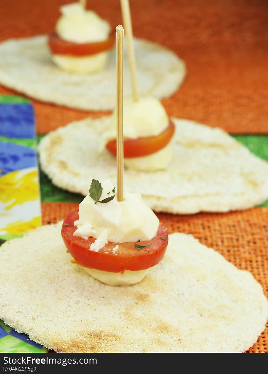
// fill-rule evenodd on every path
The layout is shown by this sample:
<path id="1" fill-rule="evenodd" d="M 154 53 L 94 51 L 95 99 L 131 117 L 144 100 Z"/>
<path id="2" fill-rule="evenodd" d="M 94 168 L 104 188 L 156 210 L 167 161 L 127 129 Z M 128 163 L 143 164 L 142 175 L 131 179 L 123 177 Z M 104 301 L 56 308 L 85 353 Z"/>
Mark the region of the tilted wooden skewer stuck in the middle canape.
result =
<path id="1" fill-rule="evenodd" d="M 132 96 L 134 101 L 139 101 L 139 91 L 136 77 L 136 58 L 133 45 L 133 31 L 130 16 L 129 0 L 120 0 L 123 15 L 124 28 L 127 35 L 127 53 L 129 57 L 129 67 L 131 73 Z"/>

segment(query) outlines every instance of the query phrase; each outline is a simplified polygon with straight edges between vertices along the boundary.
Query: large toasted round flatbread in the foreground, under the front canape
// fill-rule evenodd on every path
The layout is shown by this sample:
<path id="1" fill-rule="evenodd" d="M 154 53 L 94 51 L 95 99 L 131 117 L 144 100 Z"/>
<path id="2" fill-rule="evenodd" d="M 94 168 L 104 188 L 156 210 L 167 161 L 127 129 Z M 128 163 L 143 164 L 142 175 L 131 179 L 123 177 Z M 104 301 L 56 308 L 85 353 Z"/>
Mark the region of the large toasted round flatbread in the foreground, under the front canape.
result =
<path id="1" fill-rule="evenodd" d="M 243 352 L 268 302 L 252 274 L 187 234 L 140 282 L 111 287 L 71 256 L 61 223 L 0 249 L 0 318 L 57 352 Z"/>

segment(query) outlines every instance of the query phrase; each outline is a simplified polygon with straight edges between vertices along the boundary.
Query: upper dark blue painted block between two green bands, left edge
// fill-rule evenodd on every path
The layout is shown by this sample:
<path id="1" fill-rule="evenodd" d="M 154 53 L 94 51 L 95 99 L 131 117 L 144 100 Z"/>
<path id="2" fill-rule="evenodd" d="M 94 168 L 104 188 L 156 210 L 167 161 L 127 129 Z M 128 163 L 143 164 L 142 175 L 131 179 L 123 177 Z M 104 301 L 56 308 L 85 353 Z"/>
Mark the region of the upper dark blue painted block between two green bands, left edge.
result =
<path id="1" fill-rule="evenodd" d="M 33 106 L 31 104 L 1 104 L 0 136 L 34 139 Z"/>

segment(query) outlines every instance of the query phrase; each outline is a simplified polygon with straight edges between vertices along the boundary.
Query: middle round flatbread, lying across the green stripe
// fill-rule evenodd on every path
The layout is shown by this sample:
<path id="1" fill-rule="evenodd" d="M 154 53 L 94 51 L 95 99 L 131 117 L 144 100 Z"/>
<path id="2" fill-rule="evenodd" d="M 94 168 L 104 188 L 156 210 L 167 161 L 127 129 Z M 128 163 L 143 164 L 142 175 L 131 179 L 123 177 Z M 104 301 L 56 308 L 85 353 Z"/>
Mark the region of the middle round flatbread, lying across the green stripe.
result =
<path id="1" fill-rule="evenodd" d="M 116 159 L 99 152 L 109 117 L 50 132 L 39 146 L 41 168 L 61 188 L 86 196 L 92 178 L 116 185 Z M 218 128 L 174 119 L 173 159 L 158 172 L 124 170 L 124 188 L 154 211 L 191 214 L 247 209 L 268 198 L 268 163 Z"/>

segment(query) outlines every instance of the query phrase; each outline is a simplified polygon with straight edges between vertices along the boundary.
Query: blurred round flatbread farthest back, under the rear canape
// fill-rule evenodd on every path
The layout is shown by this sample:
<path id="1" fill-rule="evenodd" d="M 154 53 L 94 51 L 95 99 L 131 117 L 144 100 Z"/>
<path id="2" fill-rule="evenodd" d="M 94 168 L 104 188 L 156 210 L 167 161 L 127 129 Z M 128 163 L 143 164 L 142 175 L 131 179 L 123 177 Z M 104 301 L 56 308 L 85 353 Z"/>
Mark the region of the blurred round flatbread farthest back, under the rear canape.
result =
<path id="1" fill-rule="evenodd" d="M 159 99 L 172 95 L 185 76 L 184 62 L 171 50 L 135 39 L 137 80 L 141 95 Z M 0 83 L 35 99 L 82 110 L 115 107 L 115 49 L 107 67 L 96 74 L 73 74 L 53 64 L 47 37 L 12 39 L 0 44 Z M 124 95 L 130 96 L 131 80 L 124 51 Z"/>

